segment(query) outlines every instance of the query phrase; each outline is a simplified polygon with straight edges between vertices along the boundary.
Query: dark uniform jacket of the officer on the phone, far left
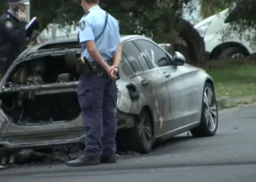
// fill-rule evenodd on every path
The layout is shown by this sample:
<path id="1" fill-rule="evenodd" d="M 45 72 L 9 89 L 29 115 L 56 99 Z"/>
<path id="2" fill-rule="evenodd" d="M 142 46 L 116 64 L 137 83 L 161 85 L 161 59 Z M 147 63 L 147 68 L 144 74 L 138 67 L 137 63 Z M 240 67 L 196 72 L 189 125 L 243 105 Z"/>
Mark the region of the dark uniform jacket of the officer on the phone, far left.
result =
<path id="1" fill-rule="evenodd" d="M 0 17 L 0 74 L 5 74 L 26 47 L 26 22 L 5 12 Z"/>

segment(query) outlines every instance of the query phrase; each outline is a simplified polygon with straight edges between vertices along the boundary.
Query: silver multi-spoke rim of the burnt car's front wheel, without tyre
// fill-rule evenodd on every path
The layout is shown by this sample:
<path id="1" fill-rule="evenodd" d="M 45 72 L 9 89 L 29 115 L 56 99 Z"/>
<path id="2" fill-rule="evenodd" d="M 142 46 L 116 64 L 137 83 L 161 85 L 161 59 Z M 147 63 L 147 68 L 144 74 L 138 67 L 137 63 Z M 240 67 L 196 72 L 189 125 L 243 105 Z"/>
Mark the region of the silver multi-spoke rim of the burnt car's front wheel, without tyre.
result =
<path id="1" fill-rule="evenodd" d="M 203 96 L 205 119 L 208 129 L 213 132 L 217 127 L 217 102 L 210 87 L 206 87 Z"/>

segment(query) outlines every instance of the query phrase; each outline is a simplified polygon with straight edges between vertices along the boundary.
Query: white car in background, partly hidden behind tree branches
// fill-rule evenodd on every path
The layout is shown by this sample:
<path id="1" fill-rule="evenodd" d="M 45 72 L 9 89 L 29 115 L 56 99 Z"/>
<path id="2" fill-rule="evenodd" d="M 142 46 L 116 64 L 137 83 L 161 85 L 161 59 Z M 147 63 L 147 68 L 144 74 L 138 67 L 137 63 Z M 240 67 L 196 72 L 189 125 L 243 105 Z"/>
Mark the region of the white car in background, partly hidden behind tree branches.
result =
<path id="1" fill-rule="evenodd" d="M 223 39 L 221 32 L 229 25 L 229 23 L 225 23 L 227 15 L 228 9 L 225 9 L 195 25 L 206 43 L 208 60 L 243 58 L 255 52 L 250 47 L 250 42 L 246 41 L 244 37 L 240 39 L 236 32 L 230 32 L 230 36 Z"/>

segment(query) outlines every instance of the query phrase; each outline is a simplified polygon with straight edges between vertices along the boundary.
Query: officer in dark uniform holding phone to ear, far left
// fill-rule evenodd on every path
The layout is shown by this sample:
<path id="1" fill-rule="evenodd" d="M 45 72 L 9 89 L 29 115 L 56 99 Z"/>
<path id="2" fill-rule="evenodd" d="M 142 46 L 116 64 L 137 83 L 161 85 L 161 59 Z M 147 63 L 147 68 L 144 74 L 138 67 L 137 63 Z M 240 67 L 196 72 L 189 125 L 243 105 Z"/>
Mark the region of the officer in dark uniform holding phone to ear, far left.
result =
<path id="1" fill-rule="evenodd" d="M 25 3 L 7 0 L 9 9 L 0 17 L 0 74 L 4 75 L 15 58 L 26 50 Z"/>

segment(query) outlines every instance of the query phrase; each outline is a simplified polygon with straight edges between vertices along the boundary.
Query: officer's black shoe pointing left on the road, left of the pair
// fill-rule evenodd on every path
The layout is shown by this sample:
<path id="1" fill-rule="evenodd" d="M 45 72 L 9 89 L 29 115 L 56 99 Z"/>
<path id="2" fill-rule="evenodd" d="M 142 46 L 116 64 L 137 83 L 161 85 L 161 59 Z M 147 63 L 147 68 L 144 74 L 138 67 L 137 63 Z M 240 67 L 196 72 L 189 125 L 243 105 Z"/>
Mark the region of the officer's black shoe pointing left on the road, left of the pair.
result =
<path id="1" fill-rule="evenodd" d="M 67 162 L 67 166 L 69 167 L 80 167 L 80 166 L 99 165 L 99 164 L 100 164 L 99 159 L 91 159 L 86 155 L 82 155 L 78 159 Z"/>

